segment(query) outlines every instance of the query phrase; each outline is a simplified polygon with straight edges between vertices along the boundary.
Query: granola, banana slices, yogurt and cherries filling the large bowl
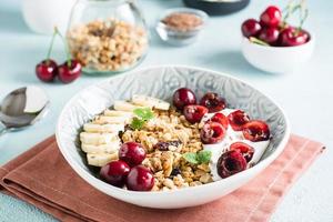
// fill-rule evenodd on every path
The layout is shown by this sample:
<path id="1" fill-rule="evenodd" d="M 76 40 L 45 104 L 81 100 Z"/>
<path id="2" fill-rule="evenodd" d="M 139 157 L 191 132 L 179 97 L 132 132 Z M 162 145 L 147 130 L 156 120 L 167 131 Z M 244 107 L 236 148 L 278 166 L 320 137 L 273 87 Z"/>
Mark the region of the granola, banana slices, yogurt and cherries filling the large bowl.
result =
<path id="1" fill-rule="evenodd" d="M 226 108 L 216 93 L 196 104 L 186 88 L 173 105 L 134 94 L 83 125 L 81 148 L 100 178 L 133 191 L 169 191 L 202 185 L 255 163 L 269 144 L 265 122 Z"/>

